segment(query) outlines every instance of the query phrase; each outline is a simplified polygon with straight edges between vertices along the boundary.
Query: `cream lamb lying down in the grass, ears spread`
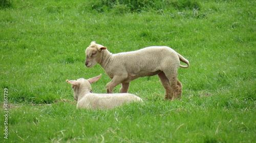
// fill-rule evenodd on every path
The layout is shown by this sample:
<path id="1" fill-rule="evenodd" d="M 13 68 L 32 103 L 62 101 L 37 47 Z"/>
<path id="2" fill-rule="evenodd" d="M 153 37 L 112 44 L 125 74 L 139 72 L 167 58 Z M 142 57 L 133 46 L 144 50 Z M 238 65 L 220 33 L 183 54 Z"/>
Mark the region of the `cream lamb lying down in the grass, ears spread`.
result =
<path id="1" fill-rule="evenodd" d="M 119 93 L 119 94 L 96 94 L 92 93 L 91 84 L 99 80 L 99 76 L 77 80 L 66 80 L 72 84 L 74 91 L 74 99 L 77 101 L 76 108 L 87 109 L 113 109 L 114 107 L 121 106 L 124 103 L 142 101 L 141 98 L 133 94 Z"/>

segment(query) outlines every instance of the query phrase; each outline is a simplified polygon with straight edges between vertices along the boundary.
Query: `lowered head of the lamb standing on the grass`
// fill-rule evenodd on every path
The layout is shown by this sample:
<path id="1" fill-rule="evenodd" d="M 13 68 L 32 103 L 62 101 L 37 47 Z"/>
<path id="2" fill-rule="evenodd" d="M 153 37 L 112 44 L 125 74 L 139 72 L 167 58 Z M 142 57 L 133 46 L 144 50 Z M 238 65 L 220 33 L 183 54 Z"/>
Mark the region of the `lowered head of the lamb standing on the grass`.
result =
<path id="1" fill-rule="evenodd" d="M 95 41 L 91 42 L 91 45 L 86 49 L 86 67 L 91 68 L 102 61 L 102 50 L 106 47 L 96 44 Z"/>

